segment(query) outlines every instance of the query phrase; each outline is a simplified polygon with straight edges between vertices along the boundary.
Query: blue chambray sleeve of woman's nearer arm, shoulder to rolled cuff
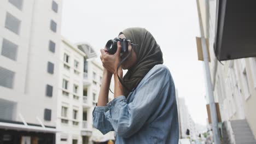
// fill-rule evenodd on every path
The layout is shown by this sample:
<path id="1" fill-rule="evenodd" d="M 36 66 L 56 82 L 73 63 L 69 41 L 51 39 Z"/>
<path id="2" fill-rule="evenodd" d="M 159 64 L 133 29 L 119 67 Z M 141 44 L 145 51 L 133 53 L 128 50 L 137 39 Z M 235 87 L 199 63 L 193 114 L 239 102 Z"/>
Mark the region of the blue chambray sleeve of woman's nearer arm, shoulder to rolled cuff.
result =
<path id="1" fill-rule="evenodd" d="M 102 133 L 113 128 L 119 136 L 124 138 L 132 136 L 154 113 L 162 98 L 167 97 L 168 92 L 165 89 L 170 87 L 170 79 L 167 68 L 158 68 L 136 88 L 131 103 L 127 104 L 126 98 L 121 95 L 110 101 L 107 106 L 96 107 L 94 122 L 104 129 Z"/>

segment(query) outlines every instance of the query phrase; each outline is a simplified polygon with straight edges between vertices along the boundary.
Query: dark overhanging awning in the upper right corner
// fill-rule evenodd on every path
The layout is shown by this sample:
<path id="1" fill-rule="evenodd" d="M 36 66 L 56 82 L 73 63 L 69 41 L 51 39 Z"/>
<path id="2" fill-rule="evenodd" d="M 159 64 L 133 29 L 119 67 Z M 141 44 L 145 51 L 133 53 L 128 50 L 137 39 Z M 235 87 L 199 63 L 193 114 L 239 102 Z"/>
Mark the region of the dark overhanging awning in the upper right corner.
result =
<path id="1" fill-rule="evenodd" d="M 219 61 L 256 57 L 256 1 L 217 0 L 214 52 Z"/>

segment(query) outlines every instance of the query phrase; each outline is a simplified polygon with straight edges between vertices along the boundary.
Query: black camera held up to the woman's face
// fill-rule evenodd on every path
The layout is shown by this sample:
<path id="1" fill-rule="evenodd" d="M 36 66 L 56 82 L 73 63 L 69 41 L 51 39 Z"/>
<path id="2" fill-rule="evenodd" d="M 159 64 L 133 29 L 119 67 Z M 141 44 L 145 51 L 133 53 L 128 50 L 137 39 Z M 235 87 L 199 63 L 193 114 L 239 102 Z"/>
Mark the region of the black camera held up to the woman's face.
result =
<path id="1" fill-rule="evenodd" d="M 121 53 L 128 52 L 128 43 L 130 43 L 130 40 L 127 40 L 126 38 L 124 39 L 114 38 L 114 39 L 108 40 L 106 44 L 107 52 L 110 53 L 111 55 L 117 52 L 118 41 L 120 41 L 120 44 L 121 44 Z"/>

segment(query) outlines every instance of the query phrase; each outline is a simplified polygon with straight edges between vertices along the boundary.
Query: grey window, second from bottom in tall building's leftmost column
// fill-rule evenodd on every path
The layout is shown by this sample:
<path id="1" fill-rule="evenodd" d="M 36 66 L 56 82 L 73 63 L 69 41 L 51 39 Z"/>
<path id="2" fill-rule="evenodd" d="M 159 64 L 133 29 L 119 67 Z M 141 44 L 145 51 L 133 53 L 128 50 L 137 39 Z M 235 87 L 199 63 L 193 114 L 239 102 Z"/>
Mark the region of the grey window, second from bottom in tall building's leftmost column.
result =
<path id="1" fill-rule="evenodd" d="M 0 86 L 13 88 L 14 75 L 13 71 L 0 67 Z"/>

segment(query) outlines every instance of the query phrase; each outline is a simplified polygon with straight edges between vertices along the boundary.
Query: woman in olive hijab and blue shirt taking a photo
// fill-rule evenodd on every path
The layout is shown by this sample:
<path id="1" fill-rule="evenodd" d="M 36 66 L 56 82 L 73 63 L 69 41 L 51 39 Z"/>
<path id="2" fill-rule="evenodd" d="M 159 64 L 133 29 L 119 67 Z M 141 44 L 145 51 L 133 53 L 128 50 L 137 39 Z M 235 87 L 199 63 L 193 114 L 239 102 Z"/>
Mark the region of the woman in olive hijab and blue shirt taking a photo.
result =
<path id="1" fill-rule="evenodd" d="M 116 143 L 178 143 L 175 87 L 170 71 L 162 65 L 160 46 L 144 28 L 127 28 L 118 38 L 132 41 L 131 55 L 119 68 L 121 59 L 127 56 L 120 57 L 120 43 L 114 55 L 101 50 L 104 70 L 92 114 L 94 127 L 102 134 L 114 130 Z M 124 77 L 122 69 L 128 70 Z M 112 75 L 114 99 L 108 102 Z"/>

